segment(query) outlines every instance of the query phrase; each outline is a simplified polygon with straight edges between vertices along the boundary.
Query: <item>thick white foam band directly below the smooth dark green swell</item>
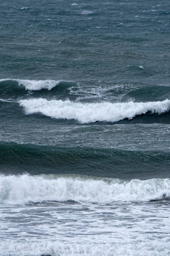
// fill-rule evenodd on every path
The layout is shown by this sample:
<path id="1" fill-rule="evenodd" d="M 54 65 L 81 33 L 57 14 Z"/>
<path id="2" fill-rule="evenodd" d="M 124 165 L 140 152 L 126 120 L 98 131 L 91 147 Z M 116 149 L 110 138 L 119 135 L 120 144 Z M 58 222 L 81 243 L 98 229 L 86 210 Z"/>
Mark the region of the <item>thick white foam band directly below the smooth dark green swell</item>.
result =
<path id="1" fill-rule="evenodd" d="M 97 179 L 86 176 L 0 176 L 0 202 L 25 204 L 43 201 L 107 203 L 150 201 L 170 197 L 169 179 Z"/>

